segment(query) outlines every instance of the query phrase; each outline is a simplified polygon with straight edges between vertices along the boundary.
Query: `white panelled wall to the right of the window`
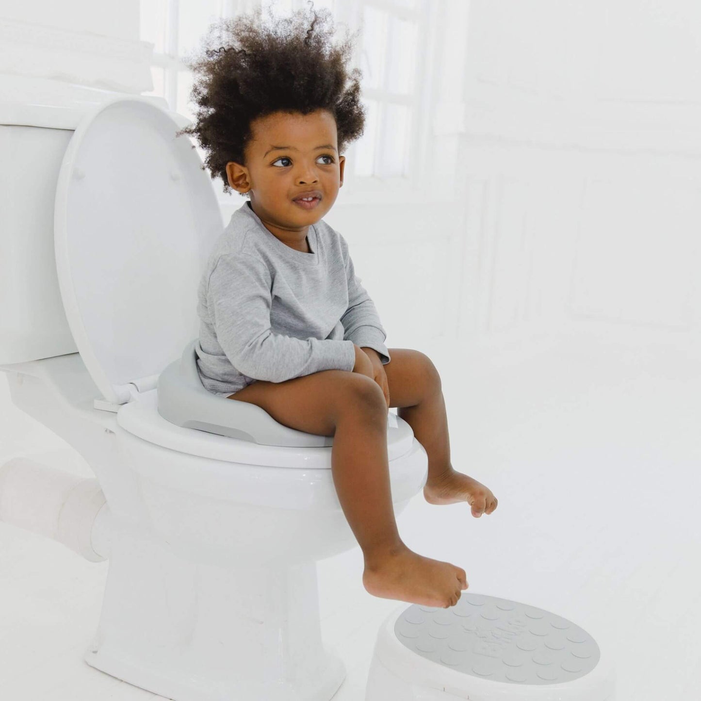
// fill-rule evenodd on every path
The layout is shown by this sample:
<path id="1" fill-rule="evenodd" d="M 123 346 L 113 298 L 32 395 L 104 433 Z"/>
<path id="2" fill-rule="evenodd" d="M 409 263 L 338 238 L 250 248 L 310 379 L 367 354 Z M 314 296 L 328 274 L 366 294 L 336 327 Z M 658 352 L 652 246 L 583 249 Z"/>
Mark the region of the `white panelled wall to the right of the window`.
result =
<path id="1" fill-rule="evenodd" d="M 472 0 L 459 332 L 701 341 L 701 7 Z"/>

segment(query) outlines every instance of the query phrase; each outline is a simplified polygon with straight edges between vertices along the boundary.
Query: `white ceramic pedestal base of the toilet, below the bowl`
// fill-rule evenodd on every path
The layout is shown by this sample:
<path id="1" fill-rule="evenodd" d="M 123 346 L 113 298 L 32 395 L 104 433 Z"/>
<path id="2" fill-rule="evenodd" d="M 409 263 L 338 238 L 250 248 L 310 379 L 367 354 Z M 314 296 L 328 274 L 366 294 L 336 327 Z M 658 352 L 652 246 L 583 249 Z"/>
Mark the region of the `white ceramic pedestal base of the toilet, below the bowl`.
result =
<path id="1" fill-rule="evenodd" d="M 329 701 L 346 676 L 322 645 L 315 562 L 188 562 L 124 524 L 85 660 L 175 701 Z"/>

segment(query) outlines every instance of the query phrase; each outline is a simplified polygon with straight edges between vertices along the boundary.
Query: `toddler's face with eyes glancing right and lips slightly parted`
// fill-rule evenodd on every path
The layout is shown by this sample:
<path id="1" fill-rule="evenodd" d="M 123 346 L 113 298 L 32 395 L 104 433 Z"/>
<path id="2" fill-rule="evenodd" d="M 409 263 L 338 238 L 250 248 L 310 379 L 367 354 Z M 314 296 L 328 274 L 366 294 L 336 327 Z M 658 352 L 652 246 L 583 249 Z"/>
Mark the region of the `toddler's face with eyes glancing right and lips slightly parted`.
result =
<path id="1" fill-rule="evenodd" d="M 325 109 L 275 112 L 254 120 L 251 134 L 245 165 L 226 164 L 229 184 L 250 192 L 257 215 L 281 229 L 304 230 L 322 219 L 343 185 L 346 161 L 338 154 L 334 116 Z M 306 191 L 319 197 L 311 207 L 294 201 Z"/>

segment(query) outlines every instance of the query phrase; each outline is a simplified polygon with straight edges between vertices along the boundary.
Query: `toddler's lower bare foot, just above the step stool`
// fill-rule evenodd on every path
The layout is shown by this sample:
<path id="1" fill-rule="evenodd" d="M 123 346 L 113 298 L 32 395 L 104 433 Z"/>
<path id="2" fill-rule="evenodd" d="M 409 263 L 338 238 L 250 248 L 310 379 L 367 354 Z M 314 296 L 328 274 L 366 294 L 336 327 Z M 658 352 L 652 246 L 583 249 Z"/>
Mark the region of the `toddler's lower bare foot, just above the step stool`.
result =
<path id="1" fill-rule="evenodd" d="M 468 588 L 465 570 L 408 547 L 372 563 L 366 560 L 362 583 L 374 597 L 441 608 L 455 606 L 461 590 Z"/>

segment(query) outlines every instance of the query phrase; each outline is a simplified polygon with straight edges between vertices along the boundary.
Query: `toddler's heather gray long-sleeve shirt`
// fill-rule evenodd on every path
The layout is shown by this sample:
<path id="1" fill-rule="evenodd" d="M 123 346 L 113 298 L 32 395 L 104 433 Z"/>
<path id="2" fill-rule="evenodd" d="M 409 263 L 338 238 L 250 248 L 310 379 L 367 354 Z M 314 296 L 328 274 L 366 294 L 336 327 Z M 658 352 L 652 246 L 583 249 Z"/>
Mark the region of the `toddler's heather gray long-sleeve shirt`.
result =
<path id="1" fill-rule="evenodd" d="M 311 253 L 273 235 L 246 202 L 231 216 L 198 287 L 197 367 L 203 386 L 229 395 L 255 380 L 284 382 L 353 370 L 356 346 L 390 362 L 375 305 L 348 244 L 321 219 Z"/>

